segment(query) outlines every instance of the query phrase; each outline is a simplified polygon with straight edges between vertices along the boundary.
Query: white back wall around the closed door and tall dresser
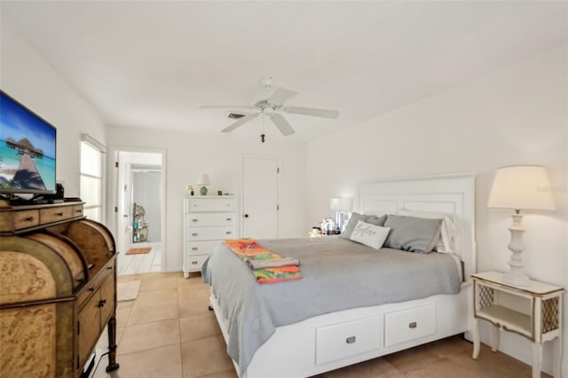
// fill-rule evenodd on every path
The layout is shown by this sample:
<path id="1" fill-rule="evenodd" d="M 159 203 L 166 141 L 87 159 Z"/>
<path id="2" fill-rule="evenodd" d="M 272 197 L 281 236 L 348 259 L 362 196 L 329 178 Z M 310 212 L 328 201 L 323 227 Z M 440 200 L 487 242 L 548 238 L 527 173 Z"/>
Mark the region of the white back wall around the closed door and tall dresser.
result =
<path id="1" fill-rule="evenodd" d="M 201 173 L 208 173 L 209 190 L 234 193 L 241 198 L 242 156 L 270 155 L 280 158 L 280 237 L 303 236 L 305 219 L 305 145 L 272 138 L 261 145 L 258 138 L 239 134 L 200 135 L 180 131 L 108 128 L 110 149 L 141 147 L 166 151 L 166 251 L 165 271 L 181 270 L 182 215 L 186 185 L 193 185 Z M 114 206 L 108 203 L 109 209 Z"/>

